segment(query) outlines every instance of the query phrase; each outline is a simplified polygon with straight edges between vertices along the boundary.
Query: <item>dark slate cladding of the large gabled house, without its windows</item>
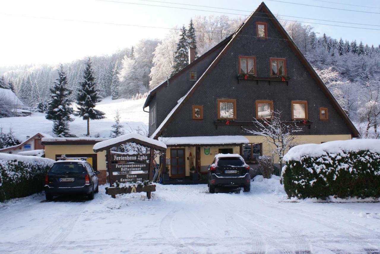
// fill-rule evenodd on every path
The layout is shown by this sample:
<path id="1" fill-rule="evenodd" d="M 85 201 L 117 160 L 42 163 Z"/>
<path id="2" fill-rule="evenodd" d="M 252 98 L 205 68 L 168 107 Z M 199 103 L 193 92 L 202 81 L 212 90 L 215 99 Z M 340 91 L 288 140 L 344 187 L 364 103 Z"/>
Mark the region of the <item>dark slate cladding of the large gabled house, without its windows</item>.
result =
<path id="1" fill-rule="evenodd" d="M 256 22 L 266 22 L 268 38 L 256 38 Z M 277 22 L 277 20 L 276 20 Z M 220 52 L 220 50 L 217 50 Z M 217 52 L 198 63 L 199 69 L 206 69 L 217 56 Z M 256 57 L 256 76 L 270 77 L 269 58 L 285 58 L 287 76 L 290 81 L 281 82 L 238 80 L 238 56 Z M 213 58 L 214 57 L 214 58 Z M 201 66 L 201 67 L 200 67 Z M 186 80 L 187 72 L 182 73 L 173 84 L 160 89 L 156 94 L 157 126 L 177 104 L 177 100 L 190 89 Z M 201 73 L 198 72 L 198 77 Z M 175 94 L 175 95 L 174 95 Z M 169 99 L 173 98 L 173 99 Z M 175 98 L 175 99 L 174 99 Z M 199 86 L 188 97 L 182 107 L 162 130 L 160 136 L 216 136 L 249 135 L 244 128 L 252 125 L 215 125 L 217 121 L 217 99 L 236 99 L 236 120 L 252 121 L 256 116 L 255 100 L 273 100 L 274 110 L 282 111 L 283 121 L 291 121 L 291 101 L 306 100 L 308 119 L 313 123 L 302 126 L 300 135 L 353 134 L 334 102 L 321 90 L 310 75 L 304 63 L 284 39 L 267 14 L 257 11 L 231 41 L 222 58 L 212 67 Z M 203 105 L 203 120 L 192 120 L 192 105 Z M 328 121 L 320 121 L 319 108 L 328 108 Z M 152 126 L 150 126 L 152 127 Z M 150 135 L 155 127 L 149 128 Z"/>

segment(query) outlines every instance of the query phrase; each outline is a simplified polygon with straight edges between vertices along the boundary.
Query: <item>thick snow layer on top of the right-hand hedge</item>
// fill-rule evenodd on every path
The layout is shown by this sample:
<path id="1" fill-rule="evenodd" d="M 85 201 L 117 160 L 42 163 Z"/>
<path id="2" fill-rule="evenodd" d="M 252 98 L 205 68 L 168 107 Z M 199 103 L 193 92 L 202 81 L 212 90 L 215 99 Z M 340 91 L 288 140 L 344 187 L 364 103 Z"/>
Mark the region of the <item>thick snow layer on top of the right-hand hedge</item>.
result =
<path id="1" fill-rule="evenodd" d="M 327 153 L 358 152 L 370 150 L 380 154 L 380 140 L 337 140 L 322 144 L 302 144 L 292 147 L 284 156 L 284 161 L 299 161 L 303 156 L 320 157 Z"/>

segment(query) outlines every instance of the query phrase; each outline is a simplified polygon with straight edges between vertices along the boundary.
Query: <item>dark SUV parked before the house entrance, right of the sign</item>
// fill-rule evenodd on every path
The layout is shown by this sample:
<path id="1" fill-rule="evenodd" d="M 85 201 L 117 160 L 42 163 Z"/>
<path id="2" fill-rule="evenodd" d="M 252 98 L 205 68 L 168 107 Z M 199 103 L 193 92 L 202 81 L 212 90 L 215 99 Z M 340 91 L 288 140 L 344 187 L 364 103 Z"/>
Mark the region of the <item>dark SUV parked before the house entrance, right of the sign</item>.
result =
<path id="1" fill-rule="evenodd" d="M 209 167 L 209 192 L 215 193 L 215 187 L 243 187 L 251 190 L 251 179 L 247 165 L 239 154 L 217 154 Z"/>

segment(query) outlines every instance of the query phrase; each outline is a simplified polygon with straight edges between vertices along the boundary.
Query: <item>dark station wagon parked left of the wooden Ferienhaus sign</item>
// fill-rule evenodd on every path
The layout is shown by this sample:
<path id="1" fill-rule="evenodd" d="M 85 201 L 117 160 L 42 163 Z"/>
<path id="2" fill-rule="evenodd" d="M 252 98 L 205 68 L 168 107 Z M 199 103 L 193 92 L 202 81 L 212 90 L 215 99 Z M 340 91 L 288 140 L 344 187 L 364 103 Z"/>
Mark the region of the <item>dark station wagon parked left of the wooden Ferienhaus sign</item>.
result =
<path id="1" fill-rule="evenodd" d="M 86 194 L 93 199 L 99 191 L 99 173 L 86 160 L 56 161 L 45 177 L 46 200 L 60 194 Z"/>

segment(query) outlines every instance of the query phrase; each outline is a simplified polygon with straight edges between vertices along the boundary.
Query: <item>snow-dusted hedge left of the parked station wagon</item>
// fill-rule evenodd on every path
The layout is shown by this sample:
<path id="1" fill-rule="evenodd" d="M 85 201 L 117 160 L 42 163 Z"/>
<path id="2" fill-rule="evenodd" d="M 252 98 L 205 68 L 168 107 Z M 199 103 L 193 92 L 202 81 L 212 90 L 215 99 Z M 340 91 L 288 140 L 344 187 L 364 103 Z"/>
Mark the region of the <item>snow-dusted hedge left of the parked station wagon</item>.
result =
<path id="1" fill-rule="evenodd" d="M 41 191 L 53 163 L 48 158 L 0 153 L 0 202 Z"/>

